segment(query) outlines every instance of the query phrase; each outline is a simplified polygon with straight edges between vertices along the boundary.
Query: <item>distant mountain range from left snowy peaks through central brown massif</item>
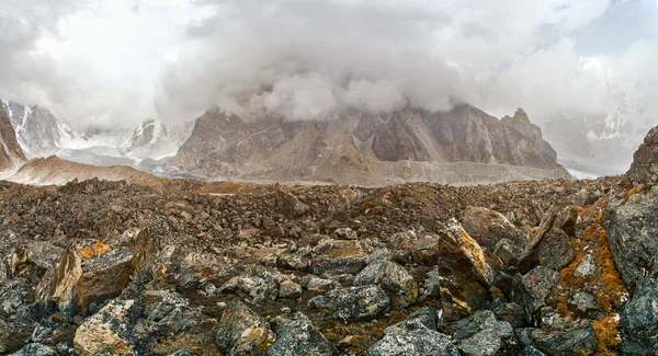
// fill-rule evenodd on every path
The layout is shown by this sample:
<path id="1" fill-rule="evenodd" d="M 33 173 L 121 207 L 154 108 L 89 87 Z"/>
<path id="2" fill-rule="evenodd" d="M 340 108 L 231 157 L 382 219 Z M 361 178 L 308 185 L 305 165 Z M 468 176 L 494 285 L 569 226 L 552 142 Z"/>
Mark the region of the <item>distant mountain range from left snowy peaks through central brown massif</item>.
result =
<path id="1" fill-rule="evenodd" d="M 15 141 L 7 139 L 9 151 L 22 147 L 25 152 L 12 151 L 8 160 L 12 163 L 5 165 L 15 168 L 25 159 L 56 154 L 82 164 L 131 165 L 164 176 L 202 179 L 382 185 L 569 177 L 523 110 L 502 119 L 463 104 L 441 113 L 342 111 L 321 120 L 288 122 L 245 120 L 215 108 L 202 115 L 190 133 L 169 129 L 156 119 L 132 130 L 76 130 L 44 107 L 2 101 L 1 108 L 5 126 L 15 131 L 7 134 Z M 75 170 L 87 175 L 100 172 L 48 159 L 31 161 L 15 176 L 32 183 L 57 176 L 63 182 Z M 114 169 L 103 174 L 127 172 Z"/>

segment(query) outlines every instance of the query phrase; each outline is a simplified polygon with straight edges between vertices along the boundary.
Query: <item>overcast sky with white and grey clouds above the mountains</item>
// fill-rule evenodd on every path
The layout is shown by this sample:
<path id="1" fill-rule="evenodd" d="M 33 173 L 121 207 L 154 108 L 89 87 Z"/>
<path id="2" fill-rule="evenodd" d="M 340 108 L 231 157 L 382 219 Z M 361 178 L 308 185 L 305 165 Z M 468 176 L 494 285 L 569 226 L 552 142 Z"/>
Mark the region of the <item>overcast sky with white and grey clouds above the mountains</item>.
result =
<path id="1" fill-rule="evenodd" d="M 541 119 L 605 112 L 611 82 L 656 97 L 657 62 L 656 0 L 0 1 L 0 97 L 80 126 L 460 101 Z"/>

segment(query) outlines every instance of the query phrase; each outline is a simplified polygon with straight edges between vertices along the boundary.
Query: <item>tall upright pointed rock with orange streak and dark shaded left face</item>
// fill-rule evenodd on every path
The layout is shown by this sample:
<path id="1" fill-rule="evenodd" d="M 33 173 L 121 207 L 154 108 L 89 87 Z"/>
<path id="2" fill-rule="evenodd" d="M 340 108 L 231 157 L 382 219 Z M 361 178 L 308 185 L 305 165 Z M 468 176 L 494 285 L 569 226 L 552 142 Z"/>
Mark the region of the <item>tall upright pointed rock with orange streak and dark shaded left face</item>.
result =
<path id="1" fill-rule="evenodd" d="M 479 244 L 452 219 L 439 240 L 439 284 L 444 321 L 483 309 L 491 298 L 492 272 Z"/>

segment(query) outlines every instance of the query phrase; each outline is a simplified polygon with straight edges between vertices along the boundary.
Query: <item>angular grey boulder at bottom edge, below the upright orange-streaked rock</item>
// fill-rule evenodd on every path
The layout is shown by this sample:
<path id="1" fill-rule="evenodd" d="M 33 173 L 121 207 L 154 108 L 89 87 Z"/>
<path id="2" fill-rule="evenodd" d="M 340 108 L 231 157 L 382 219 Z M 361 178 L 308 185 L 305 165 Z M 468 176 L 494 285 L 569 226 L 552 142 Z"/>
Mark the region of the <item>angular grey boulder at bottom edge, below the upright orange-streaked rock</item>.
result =
<path id="1" fill-rule="evenodd" d="M 512 325 L 496 320 L 489 310 L 476 311 L 446 330 L 450 330 L 455 345 L 466 355 L 508 355 L 517 351 Z"/>

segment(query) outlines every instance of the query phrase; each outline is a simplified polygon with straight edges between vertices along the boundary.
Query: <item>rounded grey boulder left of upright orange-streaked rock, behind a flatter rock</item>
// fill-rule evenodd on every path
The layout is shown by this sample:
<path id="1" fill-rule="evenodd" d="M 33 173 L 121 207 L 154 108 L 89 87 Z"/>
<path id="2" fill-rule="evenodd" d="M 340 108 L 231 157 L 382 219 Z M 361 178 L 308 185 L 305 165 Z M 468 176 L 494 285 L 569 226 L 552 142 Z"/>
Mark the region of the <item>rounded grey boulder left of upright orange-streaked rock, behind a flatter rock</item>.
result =
<path id="1" fill-rule="evenodd" d="M 389 294 L 393 308 L 409 307 L 418 297 L 418 286 L 407 269 L 383 259 L 363 268 L 354 278 L 353 285 L 381 285 Z"/>

